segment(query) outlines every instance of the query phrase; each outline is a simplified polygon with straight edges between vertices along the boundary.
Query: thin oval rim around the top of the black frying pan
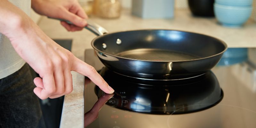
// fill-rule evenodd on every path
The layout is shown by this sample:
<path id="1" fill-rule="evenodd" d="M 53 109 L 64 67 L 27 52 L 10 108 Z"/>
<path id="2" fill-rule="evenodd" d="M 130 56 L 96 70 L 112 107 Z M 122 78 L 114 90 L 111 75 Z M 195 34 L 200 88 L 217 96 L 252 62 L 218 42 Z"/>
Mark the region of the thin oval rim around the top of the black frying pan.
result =
<path id="1" fill-rule="evenodd" d="M 126 57 L 121 57 L 121 56 L 116 56 L 116 55 L 113 55 L 113 54 L 109 54 L 109 53 L 106 53 L 106 52 L 103 52 L 103 51 L 100 51 L 99 49 L 97 49 L 93 44 L 95 42 L 96 39 L 99 39 L 103 36 L 106 36 L 106 35 L 111 35 L 111 34 L 115 34 L 115 33 L 121 33 L 121 32 L 131 32 L 131 31 L 157 31 L 157 30 L 168 30 L 168 31 L 178 31 L 178 32 L 187 32 L 187 33 L 193 33 L 193 34 L 199 34 L 199 35 L 203 35 L 203 36 L 208 36 L 208 37 L 211 37 L 215 40 L 218 40 L 221 44 L 223 44 L 225 46 L 225 49 L 222 51 L 222 52 L 219 52 L 217 54 L 214 54 L 212 56 L 207 56 L 207 57 L 203 57 L 203 58 L 197 58 L 197 59 L 191 59 L 191 60 L 172 60 L 172 61 L 168 61 L 168 60 L 140 60 L 140 59 L 132 59 L 132 58 L 126 58 Z M 212 57 L 215 57 L 215 56 L 218 56 L 220 54 L 223 54 L 227 49 L 228 49 L 228 45 L 221 39 L 218 39 L 216 37 L 213 37 L 213 36 L 209 36 L 209 35 L 205 35 L 205 34 L 201 34 L 201 33 L 196 33 L 196 32 L 190 32 L 190 31 L 182 31 L 182 30 L 175 30 L 175 29 L 139 29 L 139 30 L 127 30 L 127 31 L 117 31 L 117 32 L 111 32 L 111 33 L 106 33 L 104 35 L 100 35 L 100 36 L 97 36 L 95 37 L 92 42 L 91 42 L 91 46 L 94 50 L 98 51 L 98 52 L 101 52 L 103 54 L 106 54 L 106 55 L 109 55 L 109 56 L 113 56 L 113 57 L 116 57 L 116 58 L 121 58 L 121 59 L 127 59 L 127 60 L 138 60 L 138 61 L 149 61 L 149 62 L 185 62 L 185 61 L 195 61 L 195 60 L 203 60 L 203 59 L 207 59 L 207 58 L 212 58 Z"/>

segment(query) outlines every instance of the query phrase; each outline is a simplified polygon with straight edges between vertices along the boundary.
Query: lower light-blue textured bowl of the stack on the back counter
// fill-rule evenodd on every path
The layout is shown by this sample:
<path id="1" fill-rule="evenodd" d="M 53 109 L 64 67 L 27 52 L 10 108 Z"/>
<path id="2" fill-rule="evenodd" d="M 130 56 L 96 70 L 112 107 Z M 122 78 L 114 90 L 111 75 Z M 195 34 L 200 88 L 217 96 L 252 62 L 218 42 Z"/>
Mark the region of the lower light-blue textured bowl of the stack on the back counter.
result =
<path id="1" fill-rule="evenodd" d="M 252 6 L 226 6 L 214 4 L 214 14 L 217 20 L 226 27 L 240 27 L 252 13 Z"/>

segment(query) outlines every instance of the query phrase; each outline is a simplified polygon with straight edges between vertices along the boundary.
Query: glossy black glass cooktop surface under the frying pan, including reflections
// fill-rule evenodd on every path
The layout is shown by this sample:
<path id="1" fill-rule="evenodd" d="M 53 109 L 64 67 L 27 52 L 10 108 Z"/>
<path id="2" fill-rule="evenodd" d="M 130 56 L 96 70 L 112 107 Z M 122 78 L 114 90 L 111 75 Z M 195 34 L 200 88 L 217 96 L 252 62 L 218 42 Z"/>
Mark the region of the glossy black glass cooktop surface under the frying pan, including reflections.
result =
<path id="1" fill-rule="evenodd" d="M 230 55 L 233 51 L 239 55 Z M 242 48 L 227 53 L 212 71 L 166 82 L 118 75 L 104 67 L 94 50 L 85 50 L 85 62 L 115 90 L 107 94 L 85 78 L 85 126 L 256 127 L 256 68 L 248 60 L 251 52 Z"/>

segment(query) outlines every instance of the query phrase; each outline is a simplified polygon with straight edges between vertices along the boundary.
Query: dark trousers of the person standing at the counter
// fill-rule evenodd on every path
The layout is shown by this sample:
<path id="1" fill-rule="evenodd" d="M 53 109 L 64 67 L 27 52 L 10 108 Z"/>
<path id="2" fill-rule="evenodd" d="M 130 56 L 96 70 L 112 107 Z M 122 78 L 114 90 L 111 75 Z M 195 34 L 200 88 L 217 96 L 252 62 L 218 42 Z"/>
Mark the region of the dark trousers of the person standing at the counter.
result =
<path id="1" fill-rule="evenodd" d="M 45 127 L 28 64 L 0 79 L 0 127 Z"/>

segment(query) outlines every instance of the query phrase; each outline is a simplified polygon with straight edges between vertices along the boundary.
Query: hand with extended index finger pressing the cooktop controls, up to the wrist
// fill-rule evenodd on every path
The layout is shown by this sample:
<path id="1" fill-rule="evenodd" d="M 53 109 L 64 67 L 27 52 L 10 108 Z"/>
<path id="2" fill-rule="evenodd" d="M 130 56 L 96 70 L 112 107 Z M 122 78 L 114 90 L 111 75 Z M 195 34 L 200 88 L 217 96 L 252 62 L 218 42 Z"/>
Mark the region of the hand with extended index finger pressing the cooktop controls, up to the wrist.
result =
<path id="1" fill-rule="evenodd" d="M 35 35 L 29 33 L 29 36 L 12 40 L 12 44 L 28 42 L 20 43 L 21 45 L 17 45 L 15 49 L 21 50 L 17 52 L 40 75 L 34 79 L 37 86 L 34 92 L 39 98 L 57 98 L 72 92 L 70 71 L 89 77 L 103 91 L 113 93 L 113 89 L 92 66 L 77 59 L 71 52 L 53 42 L 39 28 L 37 29 L 37 26 L 34 32 L 37 33 Z M 27 51 L 31 47 L 32 49 Z"/>

